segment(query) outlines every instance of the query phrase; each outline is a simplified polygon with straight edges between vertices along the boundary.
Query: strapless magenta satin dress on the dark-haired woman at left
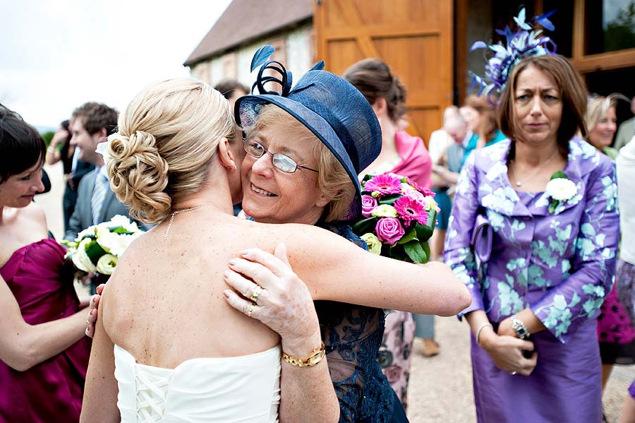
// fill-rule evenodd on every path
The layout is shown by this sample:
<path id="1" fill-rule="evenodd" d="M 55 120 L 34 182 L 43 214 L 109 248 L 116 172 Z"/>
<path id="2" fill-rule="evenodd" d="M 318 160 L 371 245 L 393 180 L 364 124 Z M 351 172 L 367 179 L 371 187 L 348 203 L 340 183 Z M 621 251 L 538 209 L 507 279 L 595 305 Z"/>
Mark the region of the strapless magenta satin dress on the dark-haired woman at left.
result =
<path id="1" fill-rule="evenodd" d="M 42 239 L 0 268 L 24 320 L 32 325 L 79 311 L 73 282 L 61 280 L 64 249 Z M 27 371 L 0 361 L 0 422 L 78 422 L 91 341 L 85 337 Z"/>

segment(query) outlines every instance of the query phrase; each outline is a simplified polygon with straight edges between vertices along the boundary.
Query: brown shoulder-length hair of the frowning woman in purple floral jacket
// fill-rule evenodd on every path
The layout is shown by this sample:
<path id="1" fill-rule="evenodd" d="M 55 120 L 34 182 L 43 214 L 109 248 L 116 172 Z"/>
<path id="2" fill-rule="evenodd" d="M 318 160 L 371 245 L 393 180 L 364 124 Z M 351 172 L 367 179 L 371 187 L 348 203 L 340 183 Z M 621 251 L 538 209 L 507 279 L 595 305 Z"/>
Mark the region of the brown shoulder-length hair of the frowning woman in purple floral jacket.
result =
<path id="1" fill-rule="evenodd" d="M 498 105 L 500 130 L 512 140 L 517 138 L 519 130 L 514 109 L 516 81 L 519 74 L 529 66 L 535 66 L 540 71 L 548 73 L 560 89 L 562 120 L 558 128 L 557 142 L 561 153 L 568 152 L 569 140 L 576 135 L 578 130 L 582 138 L 586 138 L 587 130 L 584 122 L 584 113 L 586 112 L 587 92 L 579 73 L 560 54 L 526 57 L 514 66 Z"/>

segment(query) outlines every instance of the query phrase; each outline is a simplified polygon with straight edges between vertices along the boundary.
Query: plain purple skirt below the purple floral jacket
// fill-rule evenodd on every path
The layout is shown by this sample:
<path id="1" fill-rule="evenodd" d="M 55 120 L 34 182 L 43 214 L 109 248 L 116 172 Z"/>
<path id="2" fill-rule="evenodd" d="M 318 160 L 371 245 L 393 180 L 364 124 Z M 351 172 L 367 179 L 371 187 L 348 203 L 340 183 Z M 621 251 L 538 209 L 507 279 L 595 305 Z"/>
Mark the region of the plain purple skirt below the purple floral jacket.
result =
<path id="1" fill-rule="evenodd" d="M 602 384 L 595 326 L 595 319 L 591 319 L 565 344 L 547 330 L 534 334 L 538 364 L 529 376 L 512 376 L 498 369 L 472 335 L 478 422 L 601 422 Z"/>

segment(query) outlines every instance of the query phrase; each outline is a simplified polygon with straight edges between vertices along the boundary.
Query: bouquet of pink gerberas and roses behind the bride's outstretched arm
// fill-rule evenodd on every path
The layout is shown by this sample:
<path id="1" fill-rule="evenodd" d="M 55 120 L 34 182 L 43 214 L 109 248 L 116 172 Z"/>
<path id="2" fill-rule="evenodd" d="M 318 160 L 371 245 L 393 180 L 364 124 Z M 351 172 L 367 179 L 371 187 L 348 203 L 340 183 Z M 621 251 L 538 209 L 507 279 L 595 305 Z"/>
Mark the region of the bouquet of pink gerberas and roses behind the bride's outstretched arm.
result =
<path id="1" fill-rule="evenodd" d="M 440 211 L 435 194 L 394 173 L 365 175 L 361 184 L 362 217 L 353 232 L 374 254 L 427 263 L 428 239 Z"/>

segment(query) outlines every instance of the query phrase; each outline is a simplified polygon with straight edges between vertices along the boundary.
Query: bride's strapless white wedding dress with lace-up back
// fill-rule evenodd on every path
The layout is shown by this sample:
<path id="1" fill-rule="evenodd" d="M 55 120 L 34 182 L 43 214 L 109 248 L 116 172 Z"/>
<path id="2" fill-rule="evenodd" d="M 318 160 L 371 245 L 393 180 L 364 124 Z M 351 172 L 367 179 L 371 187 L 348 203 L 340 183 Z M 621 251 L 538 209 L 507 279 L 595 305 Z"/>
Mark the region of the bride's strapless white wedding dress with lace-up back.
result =
<path id="1" fill-rule="evenodd" d="M 121 422 L 272 423 L 280 403 L 280 346 L 252 355 L 196 358 L 164 369 L 115 345 Z"/>

